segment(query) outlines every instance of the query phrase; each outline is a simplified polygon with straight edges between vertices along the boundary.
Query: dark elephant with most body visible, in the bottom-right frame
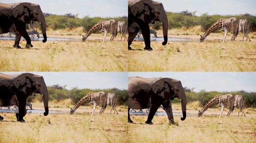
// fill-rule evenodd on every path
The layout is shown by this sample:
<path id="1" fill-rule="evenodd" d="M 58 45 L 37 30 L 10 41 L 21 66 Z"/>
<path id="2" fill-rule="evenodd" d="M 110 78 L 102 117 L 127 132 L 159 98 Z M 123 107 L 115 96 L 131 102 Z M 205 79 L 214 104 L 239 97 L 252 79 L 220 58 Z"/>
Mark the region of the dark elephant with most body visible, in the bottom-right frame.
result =
<path id="1" fill-rule="evenodd" d="M 186 94 L 180 80 L 172 78 L 128 77 L 128 122 L 133 123 L 129 110 L 150 108 L 146 124 L 153 124 L 152 119 L 160 105 L 167 113 L 169 123 L 175 124 L 170 100 L 179 98 L 183 117 L 186 119 Z"/>

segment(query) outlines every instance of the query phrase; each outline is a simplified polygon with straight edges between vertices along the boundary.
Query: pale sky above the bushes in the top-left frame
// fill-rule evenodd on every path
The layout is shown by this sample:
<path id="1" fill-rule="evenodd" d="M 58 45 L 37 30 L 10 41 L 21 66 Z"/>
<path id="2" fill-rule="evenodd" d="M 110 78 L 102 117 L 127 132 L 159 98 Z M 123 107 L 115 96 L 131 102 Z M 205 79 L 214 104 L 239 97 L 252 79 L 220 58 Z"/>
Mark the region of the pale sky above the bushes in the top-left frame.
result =
<path id="1" fill-rule="evenodd" d="M 39 4 L 43 12 L 63 15 L 79 14 L 79 18 L 128 16 L 127 0 L 0 0 L 0 3 L 31 2 Z"/>

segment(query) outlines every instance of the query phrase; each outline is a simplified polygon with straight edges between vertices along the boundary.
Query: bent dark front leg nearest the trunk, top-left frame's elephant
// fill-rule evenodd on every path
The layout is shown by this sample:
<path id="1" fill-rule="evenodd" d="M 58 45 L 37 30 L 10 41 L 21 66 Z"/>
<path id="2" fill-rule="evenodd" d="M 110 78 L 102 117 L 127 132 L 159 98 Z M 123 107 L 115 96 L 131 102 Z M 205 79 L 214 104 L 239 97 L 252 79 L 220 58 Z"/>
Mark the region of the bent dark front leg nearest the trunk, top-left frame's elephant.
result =
<path id="1" fill-rule="evenodd" d="M 26 30 L 26 24 L 20 21 L 15 22 L 15 28 L 16 28 L 16 32 L 18 32 L 19 35 L 21 35 L 26 39 L 27 41 L 26 48 L 33 47 L 33 45 L 31 44 L 31 39 L 28 36 L 27 30 Z"/>

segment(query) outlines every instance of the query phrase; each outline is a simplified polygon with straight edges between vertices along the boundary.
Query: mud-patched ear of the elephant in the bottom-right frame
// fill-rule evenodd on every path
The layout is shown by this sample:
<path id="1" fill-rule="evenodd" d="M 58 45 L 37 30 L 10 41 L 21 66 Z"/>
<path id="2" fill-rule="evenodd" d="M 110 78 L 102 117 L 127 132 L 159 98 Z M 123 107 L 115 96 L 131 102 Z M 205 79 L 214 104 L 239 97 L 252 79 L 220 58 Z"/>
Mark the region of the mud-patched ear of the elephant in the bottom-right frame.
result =
<path id="1" fill-rule="evenodd" d="M 171 87 L 166 78 L 159 78 L 155 80 L 151 87 L 156 95 L 162 96 L 165 99 L 169 99 Z"/>

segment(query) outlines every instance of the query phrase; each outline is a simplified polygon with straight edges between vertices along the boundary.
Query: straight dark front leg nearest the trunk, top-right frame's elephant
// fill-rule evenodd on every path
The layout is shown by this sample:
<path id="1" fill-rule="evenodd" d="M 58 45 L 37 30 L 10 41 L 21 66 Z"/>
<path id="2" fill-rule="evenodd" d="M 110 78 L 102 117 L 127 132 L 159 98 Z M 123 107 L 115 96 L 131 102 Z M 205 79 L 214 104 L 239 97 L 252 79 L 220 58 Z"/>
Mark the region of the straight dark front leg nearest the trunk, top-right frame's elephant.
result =
<path id="1" fill-rule="evenodd" d="M 145 43 L 144 50 L 152 51 L 153 49 L 150 47 L 150 28 L 149 28 L 149 24 L 142 21 L 142 20 L 138 20 L 137 24 L 140 27 L 141 33 L 142 33 L 143 38 L 144 38 L 144 43 Z"/>

